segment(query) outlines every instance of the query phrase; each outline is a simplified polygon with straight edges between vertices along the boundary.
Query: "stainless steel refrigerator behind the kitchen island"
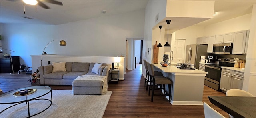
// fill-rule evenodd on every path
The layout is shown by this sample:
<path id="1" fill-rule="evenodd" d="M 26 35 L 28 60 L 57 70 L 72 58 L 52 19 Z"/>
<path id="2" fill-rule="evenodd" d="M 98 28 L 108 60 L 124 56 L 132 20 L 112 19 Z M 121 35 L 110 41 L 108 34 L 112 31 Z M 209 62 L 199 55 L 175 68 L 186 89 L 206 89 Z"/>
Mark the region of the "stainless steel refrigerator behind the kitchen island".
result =
<path id="1" fill-rule="evenodd" d="M 201 56 L 208 57 L 207 45 L 187 45 L 186 63 L 194 64 L 194 68 L 198 69 Z"/>

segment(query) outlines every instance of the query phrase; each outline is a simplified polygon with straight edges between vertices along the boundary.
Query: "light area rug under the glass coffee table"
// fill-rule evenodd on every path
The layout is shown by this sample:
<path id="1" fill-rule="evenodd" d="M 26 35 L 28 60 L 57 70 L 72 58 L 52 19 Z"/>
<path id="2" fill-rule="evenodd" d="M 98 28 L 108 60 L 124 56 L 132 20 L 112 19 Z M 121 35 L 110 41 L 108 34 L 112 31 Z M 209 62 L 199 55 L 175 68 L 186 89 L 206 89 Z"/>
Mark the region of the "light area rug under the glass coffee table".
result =
<path id="1" fill-rule="evenodd" d="M 53 104 L 44 112 L 32 118 L 102 118 L 112 91 L 103 95 L 72 95 L 72 90 L 52 90 Z M 50 99 L 50 94 L 41 98 Z M 50 105 L 47 100 L 30 101 L 30 116 Z M 11 105 L 0 105 L 4 110 Z M 0 114 L 0 118 L 26 118 L 28 106 L 26 103 L 16 105 Z"/>

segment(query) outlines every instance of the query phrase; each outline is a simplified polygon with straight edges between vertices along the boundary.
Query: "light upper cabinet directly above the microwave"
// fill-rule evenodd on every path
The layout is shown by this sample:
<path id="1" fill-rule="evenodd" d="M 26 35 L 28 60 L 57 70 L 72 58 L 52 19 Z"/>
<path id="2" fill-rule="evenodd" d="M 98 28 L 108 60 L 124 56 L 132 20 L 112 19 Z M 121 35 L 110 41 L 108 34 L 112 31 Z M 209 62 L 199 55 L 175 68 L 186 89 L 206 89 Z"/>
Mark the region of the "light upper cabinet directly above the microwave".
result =
<path id="1" fill-rule="evenodd" d="M 234 41 L 234 32 L 226 33 L 226 34 L 219 34 L 215 36 L 215 43 L 232 43 Z"/>

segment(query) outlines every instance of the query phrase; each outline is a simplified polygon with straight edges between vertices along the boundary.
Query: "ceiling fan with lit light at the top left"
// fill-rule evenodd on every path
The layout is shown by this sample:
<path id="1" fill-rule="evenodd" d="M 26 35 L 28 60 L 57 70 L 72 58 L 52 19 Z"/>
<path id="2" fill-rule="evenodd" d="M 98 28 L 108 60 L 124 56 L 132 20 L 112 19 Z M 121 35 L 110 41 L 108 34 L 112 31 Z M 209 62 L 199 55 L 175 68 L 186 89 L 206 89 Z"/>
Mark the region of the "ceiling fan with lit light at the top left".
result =
<path id="1" fill-rule="evenodd" d="M 56 4 L 56 5 L 61 5 L 63 6 L 62 2 L 56 1 L 56 0 L 23 0 L 24 3 L 26 4 L 30 4 L 30 5 L 36 5 L 38 4 L 39 6 L 41 6 L 42 8 L 45 9 L 50 9 L 49 6 L 47 6 L 46 4 L 44 4 L 43 2 L 48 2 L 51 4 Z"/>

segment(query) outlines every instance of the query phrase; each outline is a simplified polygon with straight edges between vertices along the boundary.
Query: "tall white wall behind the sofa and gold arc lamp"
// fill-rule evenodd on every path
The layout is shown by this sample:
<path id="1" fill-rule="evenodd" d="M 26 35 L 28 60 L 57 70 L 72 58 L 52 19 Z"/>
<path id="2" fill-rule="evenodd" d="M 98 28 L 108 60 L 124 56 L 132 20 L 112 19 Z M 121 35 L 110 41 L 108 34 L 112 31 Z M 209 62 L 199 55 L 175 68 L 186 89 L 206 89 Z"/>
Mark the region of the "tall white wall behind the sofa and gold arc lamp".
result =
<path id="1" fill-rule="evenodd" d="M 14 50 L 20 63 L 32 66 L 30 55 L 125 56 L 127 37 L 144 37 L 145 10 L 103 16 L 61 25 L 1 24 L 3 48 Z"/>

